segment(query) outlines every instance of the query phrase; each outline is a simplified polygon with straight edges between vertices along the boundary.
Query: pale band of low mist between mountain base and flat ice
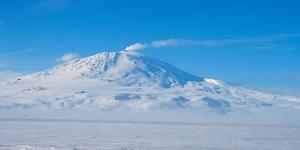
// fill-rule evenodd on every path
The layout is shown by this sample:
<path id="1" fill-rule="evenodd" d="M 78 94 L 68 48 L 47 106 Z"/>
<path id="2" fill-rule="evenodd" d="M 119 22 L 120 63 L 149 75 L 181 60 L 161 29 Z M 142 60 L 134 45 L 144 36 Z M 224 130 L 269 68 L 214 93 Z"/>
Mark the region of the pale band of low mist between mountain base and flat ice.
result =
<path id="1" fill-rule="evenodd" d="M 114 110 L 1 110 L 0 118 L 60 119 L 74 121 L 130 121 L 162 123 L 232 124 L 258 126 L 300 126 L 296 110 L 276 109 L 256 112 L 234 111 L 226 114 L 199 109 L 165 109 L 137 111 Z M 24 117 L 26 116 L 26 117 Z"/>

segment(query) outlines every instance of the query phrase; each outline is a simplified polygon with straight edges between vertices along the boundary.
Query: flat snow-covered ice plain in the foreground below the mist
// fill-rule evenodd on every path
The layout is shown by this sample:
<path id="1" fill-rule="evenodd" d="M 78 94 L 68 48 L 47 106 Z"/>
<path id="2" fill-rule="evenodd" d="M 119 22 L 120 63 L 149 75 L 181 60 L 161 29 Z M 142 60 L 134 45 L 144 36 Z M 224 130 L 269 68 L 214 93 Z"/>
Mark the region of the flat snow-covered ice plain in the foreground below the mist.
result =
<path id="1" fill-rule="evenodd" d="M 1 150 L 299 150 L 300 127 L 0 119 Z"/>

